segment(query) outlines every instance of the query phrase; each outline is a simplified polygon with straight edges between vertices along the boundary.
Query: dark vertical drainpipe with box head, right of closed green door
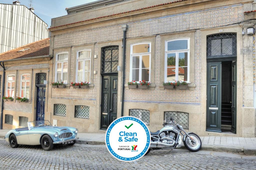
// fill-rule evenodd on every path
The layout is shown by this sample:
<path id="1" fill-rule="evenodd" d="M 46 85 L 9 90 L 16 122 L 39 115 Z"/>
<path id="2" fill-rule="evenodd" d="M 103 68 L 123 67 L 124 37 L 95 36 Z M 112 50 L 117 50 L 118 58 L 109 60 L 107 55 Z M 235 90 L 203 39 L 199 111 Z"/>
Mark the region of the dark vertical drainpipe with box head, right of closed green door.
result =
<path id="1" fill-rule="evenodd" d="M 125 41 L 126 41 L 126 31 L 127 31 L 128 25 L 122 25 L 123 29 L 123 66 L 122 66 L 122 106 L 121 106 L 121 117 L 124 116 L 124 73 L 125 73 Z"/>

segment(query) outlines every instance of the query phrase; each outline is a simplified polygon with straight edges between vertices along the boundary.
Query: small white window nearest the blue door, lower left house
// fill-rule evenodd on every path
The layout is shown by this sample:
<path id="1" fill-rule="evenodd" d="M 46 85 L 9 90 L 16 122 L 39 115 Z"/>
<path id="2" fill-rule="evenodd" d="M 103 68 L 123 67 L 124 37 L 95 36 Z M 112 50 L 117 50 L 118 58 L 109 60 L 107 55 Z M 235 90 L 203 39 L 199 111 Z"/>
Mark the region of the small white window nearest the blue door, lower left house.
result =
<path id="1" fill-rule="evenodd" d="M 20 97 L 29 99 L 30 74 L 22 74 L 20 78 Z"/>

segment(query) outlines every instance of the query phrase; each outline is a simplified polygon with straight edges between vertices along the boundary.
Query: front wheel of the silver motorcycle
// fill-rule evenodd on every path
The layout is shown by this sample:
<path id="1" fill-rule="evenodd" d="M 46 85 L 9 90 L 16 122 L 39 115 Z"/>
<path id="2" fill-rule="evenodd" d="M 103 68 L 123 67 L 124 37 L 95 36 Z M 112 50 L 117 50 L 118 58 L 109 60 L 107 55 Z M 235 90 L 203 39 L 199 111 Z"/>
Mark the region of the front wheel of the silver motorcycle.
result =
<path id="1" fill-rule="evenodd" d="M 183 142 L 186 148 L 191 152 L 197 152 L 202 146 L 201 139 L 195 133 L 188 133 L 190 137 L 192 137 L 196 142 L 194 143 L 190 138 L 186 137 L 185 141 Z"/>

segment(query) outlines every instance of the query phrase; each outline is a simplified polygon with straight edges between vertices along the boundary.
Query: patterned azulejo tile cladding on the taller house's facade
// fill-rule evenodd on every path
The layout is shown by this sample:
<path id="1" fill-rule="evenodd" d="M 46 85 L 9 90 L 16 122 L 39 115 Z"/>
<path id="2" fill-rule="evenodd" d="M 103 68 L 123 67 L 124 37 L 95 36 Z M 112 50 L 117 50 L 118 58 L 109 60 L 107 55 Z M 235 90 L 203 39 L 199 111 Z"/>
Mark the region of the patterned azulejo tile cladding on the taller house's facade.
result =
<path id="1" fill-rule="evenodd" d="M 156 35 L 155 56 L 152 56 L 151 60 L 155 61 L 154 73 L 155 76 L 151 78 L 151 81 L 156 84 L 154 90 L 151 89 L 125 89 L 125 101 L 140 101 L 147 100 L 154 102 L 159 101 L 172 101 L 186 103 L 200 103 L 201 102 L 201 31 L 202 28 L 212 28 L 218 26 L 225 26 L 234 24 L 243 20 L 243 6 L 242 4 L 222 6 L 217 8 L 210 8 L 204 10 L 198 10 L 187 13 L 180 13 L 174 15 L 168 15 L 163 17 L 151 18 L 146 20 L 134 21 L 126 23 L 129 25 L 127 30 L 127 38 L 151 36 Z M 98 52 L 97 42 L 113 41 L 122 39 L 122 24 L 112 25 L 107 27 L 95 28 L 90 30 L 83 30 L 73 33 L 67 33 L 63 35 L 57 35 L 54 38 L 54 48 L 68 47 L 80 44 L 95 43 L 94 53 Z M 160 61 L 161 59 L 161 37 L 159 34 L 196 30 L 195 32 L 195 72 L 194 80 L 191 83 L 196 84 L 195 90 L 188 89 L 169 89 L 160 90 Z M 162 47 L 164 48 L 164 47 Z M 126 48 L 127 49 L 127 48 Z M 191 49 L 192 50 L 192 49 Z M 74 59 L 75 52 L 71 49 L 71 60 Z M 126 52 L 127 54 L 127 52 Z M 126 56 L 127 63 L 127 56 Z M 129 70 L 129 66 L 125 63 L 126 70 Z M 74 65 L 71 62 L 71 70 Z M 97 70 L 98 63 L 94 60 L 93 70 Z M 193 74 L 193 73 L 192 73 Z M 71 77 L 73 79 L 74 73 L 71 71 Z M 129 77 L 125 72 L 125 77 Z M 93 83 L 97 84 L 97 75 L 93 75 Z M 52 96 L 65 96 L 65 97 L 83 97 L 83 98 L 95 98 L 97 92 L 97 86 L 93 89 L 53 89 Z M 143 96 L 143 97 L 142 97 Z"/>

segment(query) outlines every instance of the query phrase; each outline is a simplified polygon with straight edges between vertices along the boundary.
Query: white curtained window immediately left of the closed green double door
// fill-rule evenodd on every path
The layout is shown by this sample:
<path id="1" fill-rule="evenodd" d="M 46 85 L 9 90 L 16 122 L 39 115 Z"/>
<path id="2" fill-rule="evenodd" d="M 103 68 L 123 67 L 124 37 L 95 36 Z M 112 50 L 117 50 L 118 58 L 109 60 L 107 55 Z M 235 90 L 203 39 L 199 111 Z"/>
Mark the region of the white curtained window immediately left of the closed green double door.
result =
<path id="1" fill-rule="evenodd" d="M 77 51 L 76 82 L 90 82 L 91 50 Z"/>

